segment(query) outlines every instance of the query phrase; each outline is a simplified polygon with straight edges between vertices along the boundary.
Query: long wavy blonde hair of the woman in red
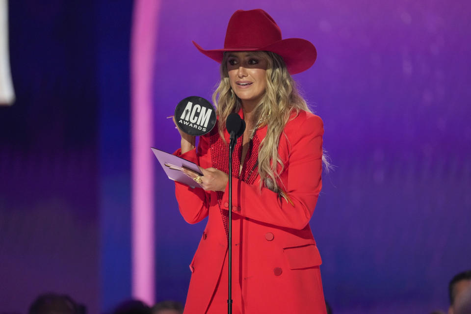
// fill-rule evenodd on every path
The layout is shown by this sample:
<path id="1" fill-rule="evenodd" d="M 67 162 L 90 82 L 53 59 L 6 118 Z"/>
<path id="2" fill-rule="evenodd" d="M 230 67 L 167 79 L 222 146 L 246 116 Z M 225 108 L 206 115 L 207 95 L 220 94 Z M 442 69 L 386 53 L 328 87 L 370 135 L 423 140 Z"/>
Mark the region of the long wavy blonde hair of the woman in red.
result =
<path id="1" fill-rule="evenodd" d="M 283 172 L 283 161 L 278 155 L 280 136 L 288 123 L 289 116 L 294 110 L 311 112 L 306 101 L 299 95 L 296 83 L 288 73 L 283 58 L 274 52 L 253 52 L 256 57 L 267 61 L 266 89 L 260 103 L 255 107 L 252 125 L 257 127 L 258 122 L 267 125 L 267 132 L 259 147 L 258 167 L 261 180 L 267 188 L 274 192 L 283 193 L 278 186 L 277 179 Z M 221 81 L 212 95 L 212 102 L 219 116 L 219 134 L 224 139 L 226 118 L 232 112 L 238 112 L 242 106 L 241 100 L 231 88 L 227 70 L 229 53 L 224 53 L 221 62 Z M 271 162 L 273 160 L 273 162 Z M 277 167 L 280 166 L 279 172 Z"/>

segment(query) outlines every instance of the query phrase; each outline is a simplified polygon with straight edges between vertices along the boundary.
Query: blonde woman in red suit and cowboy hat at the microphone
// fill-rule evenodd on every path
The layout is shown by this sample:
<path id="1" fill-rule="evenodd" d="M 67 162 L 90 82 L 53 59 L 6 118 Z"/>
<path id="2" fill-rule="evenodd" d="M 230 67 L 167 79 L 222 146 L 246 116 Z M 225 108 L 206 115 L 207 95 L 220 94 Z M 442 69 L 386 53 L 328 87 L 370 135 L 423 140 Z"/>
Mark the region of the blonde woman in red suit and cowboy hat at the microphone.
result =
<path id="1" fill-rule="evenodd" d="M 224 49 L 204 50 L 221 62 L 214 92 L 218 124 L 195 138 L 183 133 L 175 155 L 197 163 L 186 170 L 201 188 L 176 183 L 183 218 L 208 224 L 190 264 L 186 313 L 226 313 L 228 210 L 233 211 L 233 313 L 325 313 L 321 259 L 309 220 L 321 189 L 319 117 L 298 95 L 290 74 L 315 61 L 314 46 L 281 39 L 263 10 L 236 11 Z M 228 204 L 227 116 L 237 112 L 246 129 L 233 155 L 233 207 Z"/>

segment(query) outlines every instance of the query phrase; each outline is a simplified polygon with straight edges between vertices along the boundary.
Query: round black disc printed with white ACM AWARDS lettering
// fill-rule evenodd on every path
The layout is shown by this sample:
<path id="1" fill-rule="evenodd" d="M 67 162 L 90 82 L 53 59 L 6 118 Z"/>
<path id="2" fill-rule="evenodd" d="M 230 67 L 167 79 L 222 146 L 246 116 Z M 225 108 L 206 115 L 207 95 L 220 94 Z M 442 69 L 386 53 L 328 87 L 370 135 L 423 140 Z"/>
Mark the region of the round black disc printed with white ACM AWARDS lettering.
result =
<path id="1" fill-rule="evenodd" d="M 203 135 L 216 124 L 216 113 L 204 98 L 191 96 L 183 99 L 175 108 L 178 127 L 190 135 Z"/>

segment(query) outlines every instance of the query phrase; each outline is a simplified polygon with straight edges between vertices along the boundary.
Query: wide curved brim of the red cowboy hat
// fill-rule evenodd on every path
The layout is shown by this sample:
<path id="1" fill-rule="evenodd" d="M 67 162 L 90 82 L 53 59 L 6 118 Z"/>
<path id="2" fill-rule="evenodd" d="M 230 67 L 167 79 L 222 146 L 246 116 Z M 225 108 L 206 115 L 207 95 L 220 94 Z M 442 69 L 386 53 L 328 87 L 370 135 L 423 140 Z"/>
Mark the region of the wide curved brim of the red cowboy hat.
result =
<path id="1" fill-rule="evenodd" d="M 317 52 L 314 45 L 301 38 L 287 38 L 274 42 L 265 47 L 237 47 L 237 48 L 224 48 L 215 50 L 205 50 L 200 45 L 193 41 L 196 48 L 213 59 L 221 63 L 224 52 L 227 51 L 270 51 L 275 52 L 283 58 L 288 68 L 289 74 L 297 74 L 309 69 L 317 57 Z"/>

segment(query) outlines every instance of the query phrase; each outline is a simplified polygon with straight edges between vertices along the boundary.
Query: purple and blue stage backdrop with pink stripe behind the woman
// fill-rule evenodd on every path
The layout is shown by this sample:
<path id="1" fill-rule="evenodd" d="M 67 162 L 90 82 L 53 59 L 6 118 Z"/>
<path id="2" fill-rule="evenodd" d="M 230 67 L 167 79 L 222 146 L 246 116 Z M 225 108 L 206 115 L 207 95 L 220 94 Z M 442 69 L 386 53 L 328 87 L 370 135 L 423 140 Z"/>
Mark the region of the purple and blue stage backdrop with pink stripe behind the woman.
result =
<path id="1" fill-rule="evenodd" d="M 146 301 L 184 302 L 206 220 L 184 222 L 156 159 L 150 189 L 136 192 L 131 156 L 178 148 L 165 117 L 187 96 L 210 99 L 219 78 L 191 41 L 222 48 L 232 13 L 253 8 L 284 38 L 317 48 L 314 66 L 294 78 L 324 121 L 336 166 L 323 175 L 311 220 L 333 312 L 446 310 L 448 281 L 471 268 L 469 1 L 156 0 L 156 26 L 140 25 L 147 34 L 131 32 L 131 1 L 64 3 L 9 2 L 17 101 L 0 107 L 0 313 L 26 313 L 46 291 L 69 293 L 92 314 L 109 311 L 143 295 L 135 291 L 145 286 L 131 287 L 142 282 L 155 285 Z M 154 51 L 139 60 L 151 64 L 140 77 L 130 51 L 146 49 Z M 139 99 L 130 71 L 150 80 L 153 136 L 131 136 L 142 128 L 130 112 L 143 106 L 130 109 Z M 132 189 L 155 200 L 154 238 L 145 242 L 154 240 L 155 267 L 137 281 L 131 267 L 145 254 L 131 244 Z"/>

